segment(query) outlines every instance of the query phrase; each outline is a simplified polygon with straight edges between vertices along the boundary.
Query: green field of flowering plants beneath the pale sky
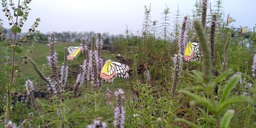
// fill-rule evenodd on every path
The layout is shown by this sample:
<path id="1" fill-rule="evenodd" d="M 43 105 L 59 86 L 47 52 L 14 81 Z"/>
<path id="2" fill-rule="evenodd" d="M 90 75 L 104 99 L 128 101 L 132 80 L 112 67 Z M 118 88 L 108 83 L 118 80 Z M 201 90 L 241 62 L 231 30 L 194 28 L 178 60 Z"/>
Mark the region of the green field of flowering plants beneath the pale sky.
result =
<path id="1" fill-rule="evenodd" d="M 203 2 L 194 16 L 178 13 L 172 32 L 167 7 L 157 30 L 145 6 L 142 33 L 127 28 L 111 41 L 66 42 L 35 31 L 40 19 L 30 36 L 10 24 L 7 38 L 1 26 L 0 127 L 256 127 L 254 29 L 206 15 Z M 67 60 L 71 46 L 81 52 Z"/>

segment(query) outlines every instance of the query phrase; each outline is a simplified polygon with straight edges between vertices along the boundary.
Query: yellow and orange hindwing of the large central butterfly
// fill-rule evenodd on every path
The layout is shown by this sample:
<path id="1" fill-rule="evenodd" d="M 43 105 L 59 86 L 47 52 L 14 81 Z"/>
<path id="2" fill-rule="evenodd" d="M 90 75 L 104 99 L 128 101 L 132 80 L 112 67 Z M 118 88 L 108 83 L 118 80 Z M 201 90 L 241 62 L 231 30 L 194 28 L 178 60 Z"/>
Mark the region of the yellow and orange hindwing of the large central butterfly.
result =
<path id="1" fill-rule="evenodd" d="M 104 79 L 106 82 L 112 82 L 114 80 L 115 65 L 112 61 L 106 61 L 104 66 L 101 69 L 100 77 Z M 112 80 L 113 79 L 113 80 Z"/>

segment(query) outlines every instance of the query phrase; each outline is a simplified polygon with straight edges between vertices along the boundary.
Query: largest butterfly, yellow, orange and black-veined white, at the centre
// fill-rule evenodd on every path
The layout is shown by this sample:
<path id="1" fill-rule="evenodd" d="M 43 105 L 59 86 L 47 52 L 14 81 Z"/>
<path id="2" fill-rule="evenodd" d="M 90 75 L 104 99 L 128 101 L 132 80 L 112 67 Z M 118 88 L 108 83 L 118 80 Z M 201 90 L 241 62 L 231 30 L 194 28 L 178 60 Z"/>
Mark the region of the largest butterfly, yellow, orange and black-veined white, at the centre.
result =
<path id="1" fill-rule="evenodd" d="M 130 67 L 123 63 L 106 60 L 104 66 L 101 69 L 100 77 L 106 82 L 113 82 L 115 77 L 127 79 L 130 77 L 128 71 Z"/>

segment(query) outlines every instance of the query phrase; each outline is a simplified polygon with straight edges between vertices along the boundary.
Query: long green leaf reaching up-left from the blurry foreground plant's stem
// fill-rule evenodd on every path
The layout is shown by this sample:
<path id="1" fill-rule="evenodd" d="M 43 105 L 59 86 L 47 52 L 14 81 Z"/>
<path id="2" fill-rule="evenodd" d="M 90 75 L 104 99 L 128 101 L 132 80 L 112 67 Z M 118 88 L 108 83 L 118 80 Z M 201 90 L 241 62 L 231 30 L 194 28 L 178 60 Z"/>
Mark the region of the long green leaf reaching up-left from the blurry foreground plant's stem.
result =
<path id="1" fill-rule="evenodd" d="M 202 104 L 202 105 L 206 106 L 211 112 L 213 112 L 213 113 L 216 112 L 216 110 L 214 109 L 214 106 L 207 99 L 205 99 L 203 97 L 200 97 L 200 96 L 198 96 L 196 94 L 190 93 L 188 91 L 185 91 L 185 90 L 181 90 L 181 91 L 179 91 L 179 93 L 186 94 L 189 97 L 196 99 L 196 101 L 199 104 Z"/>

